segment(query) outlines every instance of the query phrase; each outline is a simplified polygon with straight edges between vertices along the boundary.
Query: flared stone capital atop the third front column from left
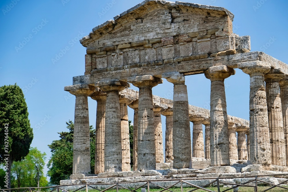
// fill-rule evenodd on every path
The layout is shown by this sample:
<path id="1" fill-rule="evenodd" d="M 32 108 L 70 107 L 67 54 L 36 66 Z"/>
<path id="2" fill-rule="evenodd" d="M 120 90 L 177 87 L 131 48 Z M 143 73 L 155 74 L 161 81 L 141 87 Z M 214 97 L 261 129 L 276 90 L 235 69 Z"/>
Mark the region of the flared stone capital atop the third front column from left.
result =
<path id="1" fill-rule="evenodd" d="M 137 77 L 129 77 L 128 82 L 132 83 L 135 87 L 142 88 L 142 87 L 155 87 L 158 84 L 163 83 L 163 80 L 154 77 L 152 75 L 143 75 Z"/>

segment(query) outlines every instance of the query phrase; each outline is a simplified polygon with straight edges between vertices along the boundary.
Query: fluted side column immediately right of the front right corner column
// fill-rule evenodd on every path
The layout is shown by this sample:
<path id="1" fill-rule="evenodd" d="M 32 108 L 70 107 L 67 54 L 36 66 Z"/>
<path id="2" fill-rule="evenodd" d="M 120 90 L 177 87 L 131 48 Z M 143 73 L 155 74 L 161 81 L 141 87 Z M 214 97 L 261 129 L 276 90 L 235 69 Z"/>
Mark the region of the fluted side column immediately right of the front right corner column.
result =
<path id="1" fill-rule="evenodd" d="M 270 132 L 271 164 L 286 166 L 286 142 L 284 138 L 282 104 L 279 81 L 283 73 L 271 70 L 265 75 Z"/>

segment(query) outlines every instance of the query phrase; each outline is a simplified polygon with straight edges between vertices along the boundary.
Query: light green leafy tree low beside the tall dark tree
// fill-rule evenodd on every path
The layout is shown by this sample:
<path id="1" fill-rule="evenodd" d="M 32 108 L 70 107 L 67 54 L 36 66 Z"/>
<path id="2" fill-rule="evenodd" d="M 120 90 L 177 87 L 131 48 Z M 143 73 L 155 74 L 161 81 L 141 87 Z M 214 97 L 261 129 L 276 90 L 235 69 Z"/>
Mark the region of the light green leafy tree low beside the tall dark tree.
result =
<path id="1" fill-rule="evenodd" d="M 12 187 L 46 187 L 48 181 L 43 173 L 45 159 L 46 153 L 31 147 L 24 160 L 12 164 Z"/>

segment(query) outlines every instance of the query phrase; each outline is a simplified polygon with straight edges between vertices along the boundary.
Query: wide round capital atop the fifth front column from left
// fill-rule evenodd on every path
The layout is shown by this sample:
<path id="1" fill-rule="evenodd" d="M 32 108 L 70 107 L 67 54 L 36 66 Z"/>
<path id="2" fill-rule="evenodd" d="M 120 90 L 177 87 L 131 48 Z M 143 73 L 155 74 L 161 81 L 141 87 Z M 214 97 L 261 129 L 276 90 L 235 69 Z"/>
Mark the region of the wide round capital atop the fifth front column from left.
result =
<path id="1" fill-rule="evenodd" d="M 224 81 L 224 79 L 231 75 L 235 75 L 235 70 L 226 65 L 212 66 L 204 71 L 204 74 L 205 77 L 211 81 Z"/>

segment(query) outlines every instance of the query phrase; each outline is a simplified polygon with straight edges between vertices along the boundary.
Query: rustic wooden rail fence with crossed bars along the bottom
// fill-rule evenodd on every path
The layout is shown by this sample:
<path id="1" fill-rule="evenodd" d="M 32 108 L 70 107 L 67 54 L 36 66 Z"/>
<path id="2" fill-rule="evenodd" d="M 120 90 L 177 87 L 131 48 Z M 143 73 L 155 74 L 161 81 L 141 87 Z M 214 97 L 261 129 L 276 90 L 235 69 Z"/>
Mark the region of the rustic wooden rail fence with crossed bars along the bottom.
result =
<path id="1" fill-rule="evenodd" d="M 241 176 L 241 177 L 237 177 L 237 178 L 252 178 L 251 180 L 245 182 L 245 183 L 242 183 L 242 184 L 239 184 L 239 183 L 228 183 L 228 182 L 223 182 L 221 180 L 223 179 L 234 179 L 235 177 L 219 177 L 219 178 L 185 178 L 185 179 L 159 179 L 159 180 L 147 180 L 147 181 L 140 181 L 140 182 L 121 182 L 121 183 L 86 183 L 86 184 L 71 184 L 71 185 L 56 185 L 56 186 L 50 186 L 50 187 L 21 187 L 21 188 L 13 188 L 13 189 L 0 189 L 0 192 L 11 192 L 11 191 L 17 191 L 18 189 L 19 190 L 24 190 L 22 192 L 41 192 L 42 189 L 50 189 L 49 192 L 53 192 L 53 191 L 56 191 L 56 192 L 61 192 L 61 191 L 64 191 L 64 192 L 76 192 L 76 191 L 79 191 L 81 189 L 86 189 L 86 192 L 89 191 L 89 188 L 91 189 L 95 189 L 97 191 L 100 191 L 100 192 L 105 192 L 109 189 L 112 189 L 112 188 L 116 188 L 116 192 L 119 192 L 119 189 L 126 189 L 126 190 L 129 190 L 129 192 L 137 192 L 138 189 L 140 189 L 141 187 L 146 187 L 147 188 L 147 191 L 150 192 L 150 189 L 153 188 L 151 187 L 151 185 L 153 186 L 156 186 L 158 188 L 162 188 L 161 191 L 159 192 L 163 192 L 163 191 L 170 191 L 170 192 L 174 192 L 171 190 L 172 187 L 175 187 L 177 184 L 180 183 L 180 189 L 181 189 L 181 192 L 183 192 L 183 183 L 185 183 L 186 185 L 189 185 L 191 187 L 195 187 L 196 189 L 192 189 L 190 191 L 187 191 L 187 192 L 192 192 L 192 191 L 196 191 L 198 189 L 202 189 L 204 191 L 209 191 L 209 192 L 225 192 L 225 191 L 229 191 L 229 190 L 232 190 L 232 189 L 235 189 L 235 188 L 238 188 L 238 187 L 253 187 L 254 188 L 254 191 L 255 192 L 260 192 L 258 190 L 258 185 L 259 184 L 266 184 L 266 185 L 272 185 L 272 187 L 269 187 L 268 189 L 265 189 L 264 191 L 261 191 L 261 192 L 266 192 L 266 191 L 269 191 L 270 189 L 273 189 L 275 187 L 279 187 L 279 188 L 282 188 L 282 189 L 286 189 L 288 191 L 288 188 L 287 187 L 284 187 L 284 186 L 281 186 L 282 184 L 288 182 L 288 179 L 286 178 L 286 180 L 282 181 L 281 183 L 279 183 L 278 185 L 275 185 L 274 183 L 270 183 L 270 182 L 267 182 L 267 181 L 264 181 L 264 180 L 261 180 L 259 178 L 263 178 L 263 177 L 273 177 L 273 176 L 286 176 L 288 177 L 288 174 L 272 174 L 272 175 L 256 175 L 256 176 Z M 189 181 L 192 181 L 192 180 L 213 180 L 211 181 L 210 183 L 204 185 L 204 186 L 198 186 L 198 185 L 194 185 L 192 183 L 189 183 L 187 182 L 187 180 Z M 169 187 L 163 187 L 163 186 L 160 186 L 160 185 L 157 185 L 155 182 L 165 182 L 165 181 L 175 181 L 176 183 L 174 183 L 173 185 L 170 185 Z M 252 182 L 255 182 L 255 184 L 253 185 L 247 185 L 249 183 L 252 183 Z M 136 184 L 136 183 L 141 183 L 142 185 L 135 188 L 135 189 L 129 189 L 127 187 L 124 187 L 123 184 Z M 144 183 L 144 184 L 143 184 Z M 205 187 L 209 187 L 213 184 L 216 183 L 216 186 L 217 186 L 217 191 L 211 191 L 209 189 L 206 189 Z M 231 185 L 232 187 L 228 188 L 228 189 L 223 189 L 223 191 L 220 190 L 220 184 L 223 184 L 223 185 Z M 97 185 L 111 185 L 110 187 L 107 187 L 105 189 L 98 189 L 97 188 Z M 65 187 L 69 187 L 69 186 L 79 186 L 78 189 L 74 190 L 74 191 L 68 191 L 65 189 Z M 145 188 L 145 189 L 146 189 Z"/>

